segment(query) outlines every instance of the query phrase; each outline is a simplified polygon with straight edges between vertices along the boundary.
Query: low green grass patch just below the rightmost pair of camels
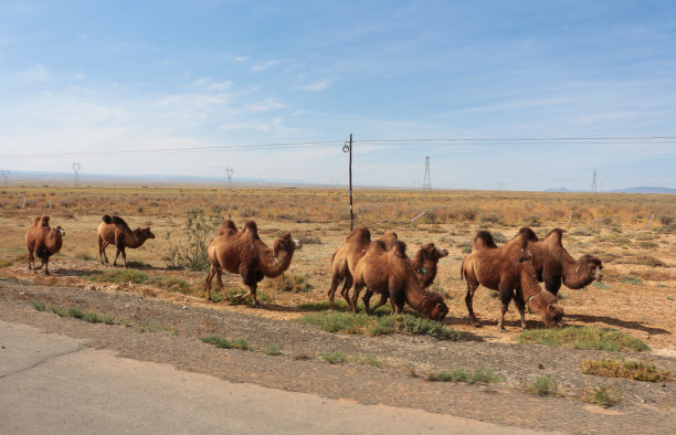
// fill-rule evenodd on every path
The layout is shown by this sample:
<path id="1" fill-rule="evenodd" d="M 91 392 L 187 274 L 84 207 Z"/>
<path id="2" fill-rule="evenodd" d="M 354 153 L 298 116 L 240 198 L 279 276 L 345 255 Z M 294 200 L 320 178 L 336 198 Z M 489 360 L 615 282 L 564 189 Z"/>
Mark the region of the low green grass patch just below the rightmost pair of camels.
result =
<path id="1" fill-rule="evenodd" d="M 561 329 L 534 329 L 517 336 L 522 343 L 546 344 L 573 349 L 600 349 L 611 351 L 643 352 L 649 350 L 640 339 L 616 329 L 569 327 Z"/>

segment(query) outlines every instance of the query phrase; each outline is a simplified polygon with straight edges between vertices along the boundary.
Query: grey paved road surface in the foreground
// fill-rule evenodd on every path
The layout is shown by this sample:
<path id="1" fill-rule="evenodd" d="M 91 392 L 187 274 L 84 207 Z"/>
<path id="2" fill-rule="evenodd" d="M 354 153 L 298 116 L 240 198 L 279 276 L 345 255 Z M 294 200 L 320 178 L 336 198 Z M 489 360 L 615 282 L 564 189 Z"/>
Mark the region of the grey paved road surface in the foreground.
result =
<path id="1" fill-rule="evenodd" d="M 0 434 L 526 434 L 450 415 L 236 384 L 0 321 Z"/>

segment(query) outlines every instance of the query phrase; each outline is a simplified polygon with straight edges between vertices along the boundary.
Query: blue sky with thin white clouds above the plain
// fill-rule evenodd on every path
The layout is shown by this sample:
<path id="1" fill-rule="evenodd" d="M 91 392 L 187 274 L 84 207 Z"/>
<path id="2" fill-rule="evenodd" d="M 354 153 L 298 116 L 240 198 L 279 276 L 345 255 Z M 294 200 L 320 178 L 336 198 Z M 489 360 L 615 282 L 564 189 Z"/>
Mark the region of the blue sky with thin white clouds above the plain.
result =
<path id="1" fill-rule="evenodd" d="M 0 166 L 346 183 L 352 132 L 356 184 L 676 188 L 676 139 L 545 140 L 676 137 L 675 72 L 672 1 L 4 0 Z"/>

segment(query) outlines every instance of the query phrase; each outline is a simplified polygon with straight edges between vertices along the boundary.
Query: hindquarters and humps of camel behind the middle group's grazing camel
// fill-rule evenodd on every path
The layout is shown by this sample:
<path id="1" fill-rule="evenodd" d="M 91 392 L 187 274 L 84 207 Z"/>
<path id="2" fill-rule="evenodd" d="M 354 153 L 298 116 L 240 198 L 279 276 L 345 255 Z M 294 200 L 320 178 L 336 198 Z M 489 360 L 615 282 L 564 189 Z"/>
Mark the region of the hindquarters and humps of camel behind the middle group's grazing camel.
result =
<path id="1" fill-rule="evenodd" d="M 397 240 L 397 233 L 393 231 L 388 231 L 379 238 L 388 248 L 392 247 Z M 340 295 L 342 295 L 348 305 L 351 306 L 349 290 L 353 284 L 355 266 L 363 256 L 370 244 L 371 232 L 369 229 L 360 226 L 345 238 L 345 244 L 331 256 L 331 285 L 327 293 L 331 309 L 334 309 L 336 289 L 344 279 L 345 284 L 342 285 Z"/>

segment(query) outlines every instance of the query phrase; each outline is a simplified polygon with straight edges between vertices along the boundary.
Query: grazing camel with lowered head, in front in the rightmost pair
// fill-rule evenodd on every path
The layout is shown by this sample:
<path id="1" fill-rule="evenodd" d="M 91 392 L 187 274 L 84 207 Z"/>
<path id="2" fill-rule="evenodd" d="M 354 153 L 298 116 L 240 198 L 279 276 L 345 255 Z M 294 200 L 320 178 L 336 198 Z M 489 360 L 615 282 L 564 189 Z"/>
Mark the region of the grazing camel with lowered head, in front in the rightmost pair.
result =
<path id="1" fill-rule="evenodd" d="M 489 232 L 479 231 L 476 234 L 473 251 L 463 259 L 461 267 L 461 279 L 464 277 L 467 280 L 465 303 L 472 326 L 480 326 L 472 307 L 479 284 L 499 291 L 501 315 L 498 330 L 505 331 L 505 312 L 513 298 L 519 310 L 521 328 L 526 329 L 526 305 L 540 315 L 548 328 L 560 325 L 563 308 L 554 295 L 539 286 L 531 255 L 524 251 L 527 243 L 528 233 L 524 231 L 500 247 L 496 246 Z"/>

